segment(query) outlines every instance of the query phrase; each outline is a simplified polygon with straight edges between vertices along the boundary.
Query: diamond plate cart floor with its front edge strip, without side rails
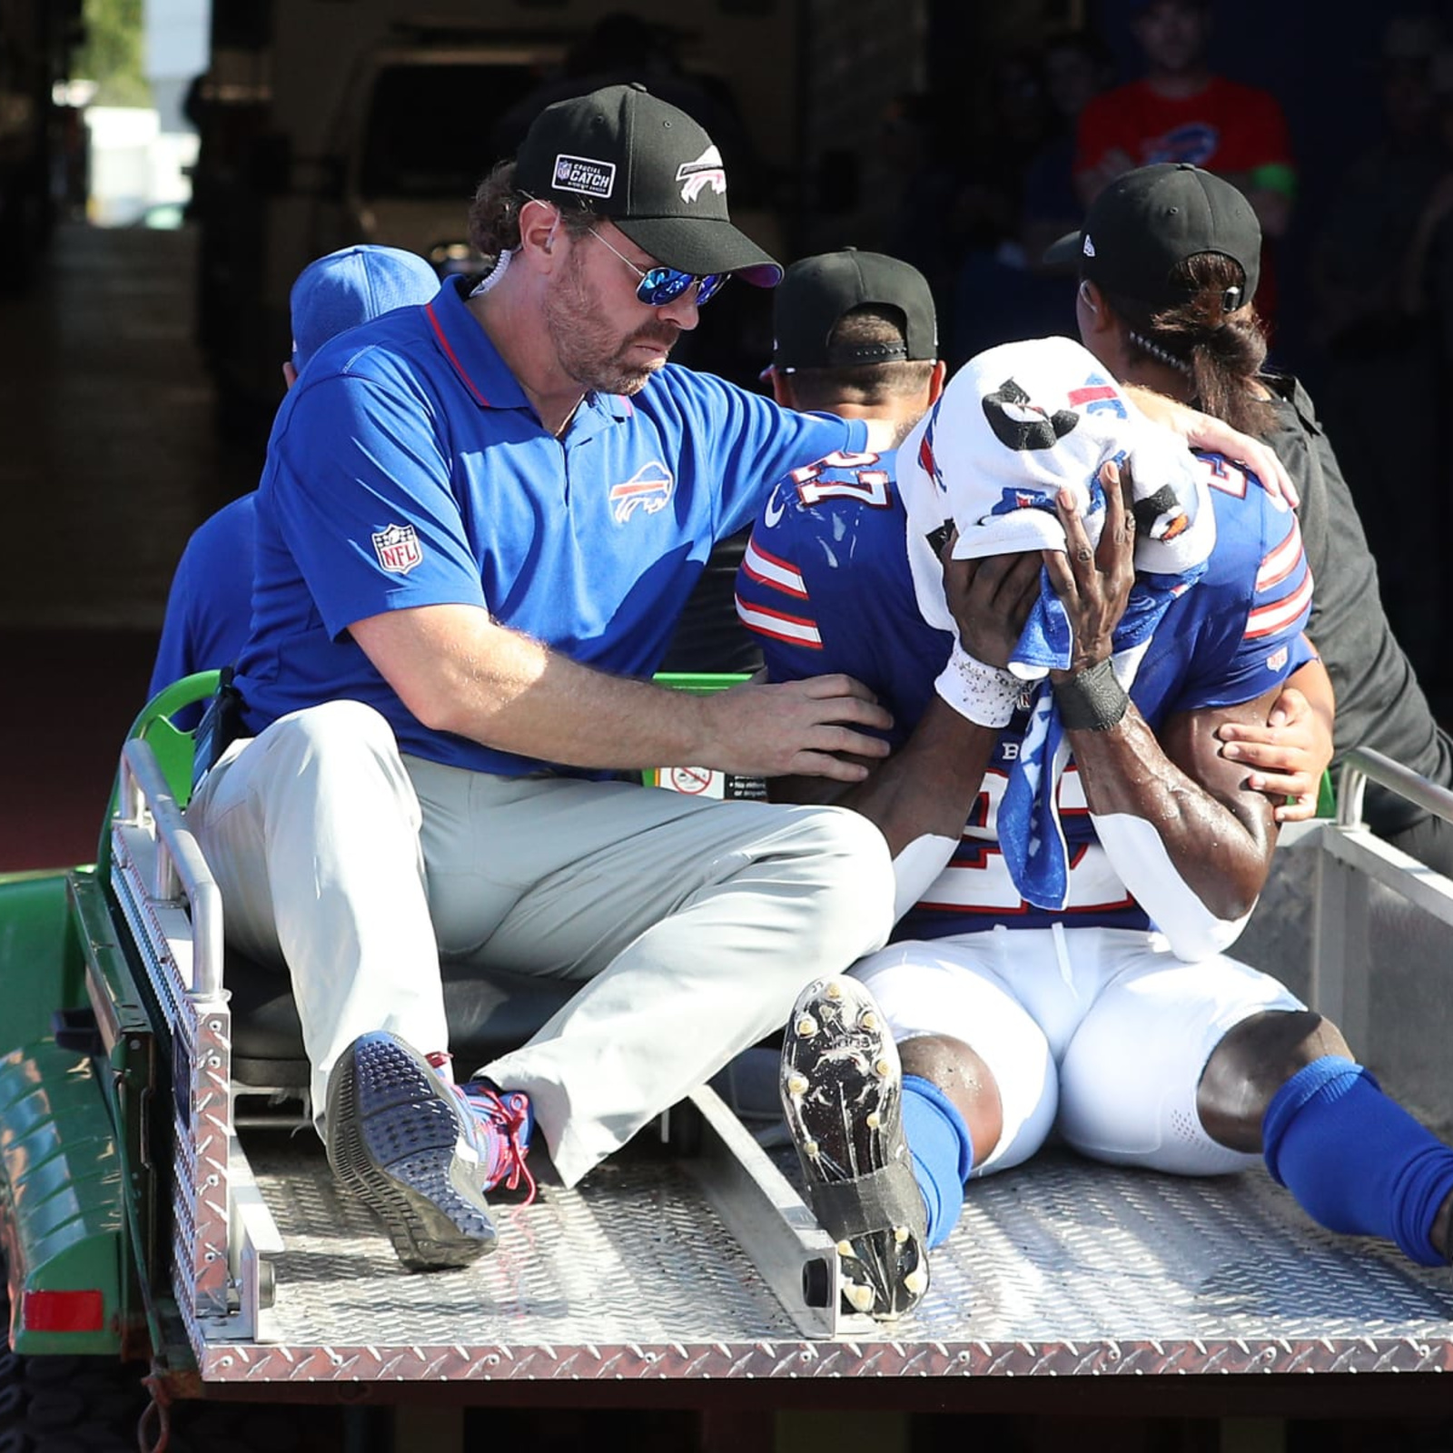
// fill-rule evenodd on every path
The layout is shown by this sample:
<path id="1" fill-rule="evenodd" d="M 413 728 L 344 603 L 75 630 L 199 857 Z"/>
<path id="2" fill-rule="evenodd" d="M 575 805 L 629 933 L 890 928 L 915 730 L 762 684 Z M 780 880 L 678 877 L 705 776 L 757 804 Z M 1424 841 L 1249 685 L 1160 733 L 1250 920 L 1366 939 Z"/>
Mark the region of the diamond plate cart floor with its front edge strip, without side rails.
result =
<path id="1" fill-rule="evenodd" d="M 808 1341 L 681 1164 L 618 1158 L 501 1206 L 498 1252 L 402 1271 L 321 1152 L 248 1158 L 285 1251 L 218 1380 L 1441 1372 L 1453 1271 L 1318 1229 L 1260 1171 L 1213 1181 L 1069 1155 L 969 1187 L 917 1314 Z M 774 1157 L 783 1170 L 783 1158 Z"/>

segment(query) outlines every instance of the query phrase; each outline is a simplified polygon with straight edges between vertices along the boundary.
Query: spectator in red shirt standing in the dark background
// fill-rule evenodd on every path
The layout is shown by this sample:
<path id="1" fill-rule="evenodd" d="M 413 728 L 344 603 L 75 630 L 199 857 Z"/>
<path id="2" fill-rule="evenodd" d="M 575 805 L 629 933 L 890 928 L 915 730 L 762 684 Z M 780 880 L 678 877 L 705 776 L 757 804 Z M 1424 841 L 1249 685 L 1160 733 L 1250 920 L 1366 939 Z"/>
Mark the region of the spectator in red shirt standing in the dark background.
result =
<path id="1" fill-rule="evenodd" d="M 1080 115 L 1075 187 L 1088 206 L 1132 167 L 1190 161 L 1225 177 L 1255 208 L 1264 237 L 1286 232 L 1296 171 L 1276 99 L 1206 65 L 1207 0 L 1151 0 L 1132 29 L 1142 80 L 1096 96 Z M 1263 267 L 1263 294 L 1266 292 Z M 1258 296 L 1266 312 L 1266 299 Z"/>

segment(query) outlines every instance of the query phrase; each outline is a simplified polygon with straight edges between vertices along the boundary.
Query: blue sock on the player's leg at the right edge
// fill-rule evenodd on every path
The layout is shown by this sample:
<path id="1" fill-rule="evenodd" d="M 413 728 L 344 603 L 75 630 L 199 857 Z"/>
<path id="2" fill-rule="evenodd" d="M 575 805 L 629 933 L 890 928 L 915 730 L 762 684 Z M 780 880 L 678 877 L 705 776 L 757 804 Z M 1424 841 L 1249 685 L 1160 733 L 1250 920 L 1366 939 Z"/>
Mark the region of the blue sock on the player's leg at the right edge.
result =
<path id="1" fill-rule="evenodd" d="M 1299 1069 L 1261 1122 L 1267 1170 L 1329 1231 L 1385 1237 L 1444 1266 L 1433 1221 L 1453 1193 L 1453 1149 L 1341 1055 Z"/>

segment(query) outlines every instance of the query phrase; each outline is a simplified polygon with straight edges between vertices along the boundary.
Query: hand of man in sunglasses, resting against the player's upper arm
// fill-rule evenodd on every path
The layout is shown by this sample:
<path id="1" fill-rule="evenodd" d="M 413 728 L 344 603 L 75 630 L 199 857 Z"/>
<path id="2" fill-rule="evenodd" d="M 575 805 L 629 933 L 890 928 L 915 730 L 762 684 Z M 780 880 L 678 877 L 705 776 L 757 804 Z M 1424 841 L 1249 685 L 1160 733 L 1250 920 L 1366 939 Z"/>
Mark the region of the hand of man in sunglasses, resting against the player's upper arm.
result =
<path id="1" fill-rule="evenodd" d="M 758 686 L 744 681 L 702 697 L 711 721 L 700 760 L 742 776 L 831 777 L 862 782 L 888 742 L 862 728 L 886 731 L 894 719 L 850 676 L 809 676 Z"/>

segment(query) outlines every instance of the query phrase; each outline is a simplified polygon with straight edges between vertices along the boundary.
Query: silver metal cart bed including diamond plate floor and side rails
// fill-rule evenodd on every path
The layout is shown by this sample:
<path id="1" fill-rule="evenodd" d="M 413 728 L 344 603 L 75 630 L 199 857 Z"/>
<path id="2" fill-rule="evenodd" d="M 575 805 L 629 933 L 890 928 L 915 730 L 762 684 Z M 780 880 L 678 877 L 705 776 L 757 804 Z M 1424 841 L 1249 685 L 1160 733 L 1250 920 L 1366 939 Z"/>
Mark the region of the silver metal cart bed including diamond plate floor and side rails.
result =
<path id="1" fill-rule="evenodd" d="M 128 796 L 145 788 L 151 818 L 138 805 L 135 822 L 121 824 L 118 863 L 135 879 L 132 927 L 167 985 L 170 997 L 158 997 L 174 1007 L 173 1059 L 187 1091 L 177 1098 L 174 1133 L 179 1164 L 195 1170 L 177 1193 L 176 1292 L 205 1382 L 1453 1366 L 1449 1268 L 1422 1271 L 1389 1247 L 1321 1231 L 1263 1171 L 1187 1180 L 1055 1152 L 971 1184 L 912 1316 L 892 1325 L 843 1316 L 833 1247 L 790 1184 L 790 1151 L 763 1154 L 705 1088 L 692 1096 L 687 1129 L 673 1132 L 679 1145 L 695 1139 L 693 1158 L 631 1146 L 581 1187 L 545 1187 L 532 1206 L 498 1206 L 500 1250 L 477 1266 L 408 1274 L 362 1206 L 336 1191 L 309 1129 L 234 1123 L 219 923 L 198 911 L 211 881 L 142 748 L 128 745 L 132 777 L 124 782 L 132 783 Z M 148 843 L 151 822 L 161 849 Z M 1376 1020 L 1367 1013 L 1370 940 L 1393 920 L 1372 911 L 1361 879 L 1404 892 L 1440 926 L 1453 924 L 1453 885 L 1425 882 L 1417 865 L 1357 830 L 1318 831 L 1306 834 L 1305 851 L 1327 862 L 1287 862 L 1299 869 L 1292 878 L 1316 885 L 1318 930 L 1302 928 L 1300 950 L 1276 931 L 1263 934 L 1261 949 L 1289 965 L 1300 952 L 1315 968 L 1312 988 L 1335 994 L 1332 1017 L 1343 1020 L 1345 1010 L 1366 1024 Z M 1340 876 L 1328 879 L 1332 869 Z M 180 917 L 166 897 L 173 876 L 190 885 L 205 930 L 196 955 L 187 926 L 171 923 Z M 1267 927 L 1280 926 L 1271 914 Z M 1446 942 L 1446 933 L 1388 937 L 1396 940 L 1389 953 Z M 1319 944 L 1315 965 L 1309 942 Z M 1446 1036 L 1434 1037 L 1441 1078 Z"/>

